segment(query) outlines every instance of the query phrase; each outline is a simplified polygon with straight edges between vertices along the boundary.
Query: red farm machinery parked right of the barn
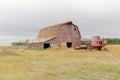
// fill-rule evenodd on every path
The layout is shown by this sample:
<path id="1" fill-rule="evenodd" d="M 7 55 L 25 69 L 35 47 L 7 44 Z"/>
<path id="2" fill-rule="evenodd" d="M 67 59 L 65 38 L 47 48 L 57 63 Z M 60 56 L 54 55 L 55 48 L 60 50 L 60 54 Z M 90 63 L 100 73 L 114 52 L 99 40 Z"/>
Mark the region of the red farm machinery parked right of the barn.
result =
<path id="1" fill-rule="evenodd" d="M 107 48 L 104 47 L 107 44 L 107 40 L 101 39 L 100 36 L 92 36 L 90 40 L 81 40 L 81 43 L 84 43 L 84 45 L 81 44 L 79 47 L 74 47 L 74 49 L 75 50 L 86 49 L 90 51 L 92 49 L 96 49 L 107 51 Z"/>

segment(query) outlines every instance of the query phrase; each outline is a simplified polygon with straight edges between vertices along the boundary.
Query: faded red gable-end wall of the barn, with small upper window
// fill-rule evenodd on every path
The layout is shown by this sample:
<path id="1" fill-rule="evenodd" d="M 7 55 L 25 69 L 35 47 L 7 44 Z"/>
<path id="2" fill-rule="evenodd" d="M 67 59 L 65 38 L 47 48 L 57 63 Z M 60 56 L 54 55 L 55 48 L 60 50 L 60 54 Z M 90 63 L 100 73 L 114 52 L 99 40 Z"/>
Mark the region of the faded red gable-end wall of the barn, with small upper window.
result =
<path id="1" fill-rule="evenodd" d="M 73 46 L 80 46 L 80 32 L 77 26 L 66 24 L 60 27 L 58 39 L 61 47 L 66 46 L 67 42 L 72 42 Z"/>

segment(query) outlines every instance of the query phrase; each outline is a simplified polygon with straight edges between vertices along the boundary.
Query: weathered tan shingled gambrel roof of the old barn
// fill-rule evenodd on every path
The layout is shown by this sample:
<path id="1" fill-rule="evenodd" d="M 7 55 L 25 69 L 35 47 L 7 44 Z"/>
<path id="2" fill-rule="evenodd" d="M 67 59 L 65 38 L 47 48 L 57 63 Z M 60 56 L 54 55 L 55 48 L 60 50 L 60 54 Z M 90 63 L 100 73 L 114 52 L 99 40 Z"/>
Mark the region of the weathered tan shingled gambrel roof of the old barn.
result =
<path id="1" fill-rule="evenodd" d="M 29 43 L 42 43 L 57 37 L 60 27 L 65 24 L 73 24 L 73 23 L 70 21 L 70 22 L 65 22 L 43 28 L 39 31 L 37 38 L 33 41 L 30 41 Z"/>

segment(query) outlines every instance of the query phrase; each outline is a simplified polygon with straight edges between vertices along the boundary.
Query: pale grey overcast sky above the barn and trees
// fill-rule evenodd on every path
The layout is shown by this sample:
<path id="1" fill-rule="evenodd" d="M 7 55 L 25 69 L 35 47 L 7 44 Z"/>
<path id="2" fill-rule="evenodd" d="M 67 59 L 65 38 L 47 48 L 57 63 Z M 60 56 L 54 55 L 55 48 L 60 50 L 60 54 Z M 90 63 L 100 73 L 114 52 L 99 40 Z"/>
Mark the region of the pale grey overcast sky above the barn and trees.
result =
<path id="1" fill-rule="evenodd" d="M 82 37 L 120 38 L 120 0 L 0 0 L 0 44 L 32 40 L 41 28 L 66 21 Z"/>

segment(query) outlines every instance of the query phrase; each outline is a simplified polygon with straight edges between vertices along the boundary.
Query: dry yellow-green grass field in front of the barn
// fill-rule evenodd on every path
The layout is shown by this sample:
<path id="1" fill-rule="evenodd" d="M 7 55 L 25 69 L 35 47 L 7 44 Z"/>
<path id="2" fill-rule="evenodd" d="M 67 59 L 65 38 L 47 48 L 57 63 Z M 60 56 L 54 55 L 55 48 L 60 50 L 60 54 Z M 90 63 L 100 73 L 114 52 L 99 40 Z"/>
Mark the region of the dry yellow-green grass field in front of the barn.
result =
<path id="1" fill-rule="evenodd" d="M 120 80 L 120 45 L 106 47 L 1 51 L 0 80 Z"/>

